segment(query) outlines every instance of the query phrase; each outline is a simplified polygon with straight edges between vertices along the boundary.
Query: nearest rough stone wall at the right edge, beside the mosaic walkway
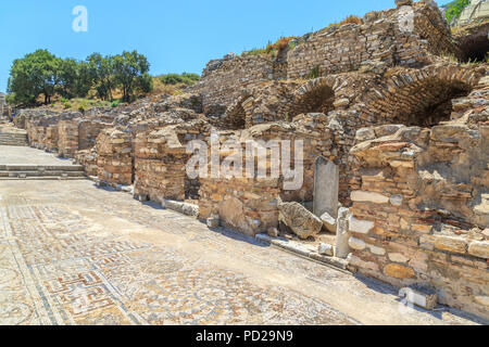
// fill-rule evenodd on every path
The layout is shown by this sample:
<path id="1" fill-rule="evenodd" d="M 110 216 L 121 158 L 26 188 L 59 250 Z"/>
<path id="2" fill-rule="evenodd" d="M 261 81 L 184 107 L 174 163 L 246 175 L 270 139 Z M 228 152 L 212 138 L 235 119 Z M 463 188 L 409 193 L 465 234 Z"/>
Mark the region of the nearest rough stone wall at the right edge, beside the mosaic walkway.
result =
<path id="1" fill-rule="evenodd" d="M 488 317 L 489 127 L 398 129 L 371 129 L 352 150 L 350 266 Z"/>

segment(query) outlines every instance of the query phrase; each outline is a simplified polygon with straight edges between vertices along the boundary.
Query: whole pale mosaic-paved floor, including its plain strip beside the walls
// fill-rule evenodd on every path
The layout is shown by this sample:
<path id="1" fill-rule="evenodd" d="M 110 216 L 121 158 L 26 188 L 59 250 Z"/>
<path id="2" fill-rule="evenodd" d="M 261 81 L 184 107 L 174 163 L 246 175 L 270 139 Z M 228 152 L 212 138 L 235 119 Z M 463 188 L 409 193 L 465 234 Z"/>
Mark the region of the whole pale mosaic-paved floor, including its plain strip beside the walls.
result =
<path id="1" fill-rule="evenodd" d="M 396 298 L 90 181 L 0 182 L 0 324 L 475 323 Z"/>

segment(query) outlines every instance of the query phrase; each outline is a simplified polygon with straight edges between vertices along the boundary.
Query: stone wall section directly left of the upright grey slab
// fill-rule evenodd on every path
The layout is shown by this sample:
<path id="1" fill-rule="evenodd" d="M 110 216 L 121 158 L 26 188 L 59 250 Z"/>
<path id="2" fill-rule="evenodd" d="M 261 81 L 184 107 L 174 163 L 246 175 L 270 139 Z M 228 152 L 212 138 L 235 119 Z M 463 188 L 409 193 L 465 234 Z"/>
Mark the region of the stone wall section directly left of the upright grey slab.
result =
<path id="1" fill-rule="evenodd" d="M 254 178 L 227 178 L 223 171 L 218 178 L 211 176 L 201 178 L 200 189 L 200 217 L 209 218 L 220 216 L 222 222 L 246 234 L 254 235 L 266 232 L 269 228 L 278 227 L 278 198 L 285 202 L 312 202 L 314 192 L 314 163 L 317 156 L 323 155 L 331 160 L 337 158 L 331 154 L 333 142 L 330 133 L 325 127 L 327 117 L 321 114 L 309 114 L 297 117 L 292 124 L 273 123 L 251 127 L 243 131 L 221 132 L 220 160 L 233 154 L 229 149 L 223 147 L 224 142 L 235 140 L 236 147 L 247 153 L 247 142 L 251 140 L 290 140 L 291 168 L 296 167 L 294 141 L 302 140 L 303 157 L 303 185 L 296 191 L 284 189 L 284 171 L 280 169 L 278 178 L 269 177 L 273 165 L 267 158 L 267 178 L 258 176 L 255 167 Z M 319 131 L 321 129 L 321 131 Z M 280 145 L 277 147 L 280 150 Z M 211 155 L 211 154 L 210 154 Z M 246 168 L 246 159 L 242 159 Z M 244 171 L 243 171 L 244 172 Z"/>

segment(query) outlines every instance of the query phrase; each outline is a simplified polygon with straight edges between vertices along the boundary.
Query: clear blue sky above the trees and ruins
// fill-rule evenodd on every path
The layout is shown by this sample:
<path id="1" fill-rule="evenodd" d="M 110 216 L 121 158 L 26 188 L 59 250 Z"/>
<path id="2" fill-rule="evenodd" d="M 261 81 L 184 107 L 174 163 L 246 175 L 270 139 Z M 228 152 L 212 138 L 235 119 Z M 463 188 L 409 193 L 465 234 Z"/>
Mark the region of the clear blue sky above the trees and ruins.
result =
<path id="1" fill-rule="evenodd" d="M 76 5 L 88 10 L 87 33 L 72 29 Z M 229 52 L 393 7 L 394 0 L 0 1 L 0 91 L 12 61 L 37 49 L 76 59 L 136 49 L 148 56 L 153 75 L 200 74 L 208 61 Z"/>

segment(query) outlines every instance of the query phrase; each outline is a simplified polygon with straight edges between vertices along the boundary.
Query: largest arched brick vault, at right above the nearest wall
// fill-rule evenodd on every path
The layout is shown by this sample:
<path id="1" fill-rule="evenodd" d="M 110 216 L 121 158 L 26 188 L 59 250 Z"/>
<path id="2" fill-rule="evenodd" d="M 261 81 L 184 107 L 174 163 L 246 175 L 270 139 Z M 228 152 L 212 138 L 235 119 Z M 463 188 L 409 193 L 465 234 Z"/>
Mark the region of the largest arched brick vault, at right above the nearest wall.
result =
<path id="1" fill-rule="evenodd" d="M 387 77 L 359 107 L 376 124 L 431 127 L 450 120 L 453 99 L 467 95 L 480 75 L 461 66 L 437 66 Z"/>

